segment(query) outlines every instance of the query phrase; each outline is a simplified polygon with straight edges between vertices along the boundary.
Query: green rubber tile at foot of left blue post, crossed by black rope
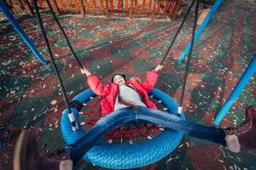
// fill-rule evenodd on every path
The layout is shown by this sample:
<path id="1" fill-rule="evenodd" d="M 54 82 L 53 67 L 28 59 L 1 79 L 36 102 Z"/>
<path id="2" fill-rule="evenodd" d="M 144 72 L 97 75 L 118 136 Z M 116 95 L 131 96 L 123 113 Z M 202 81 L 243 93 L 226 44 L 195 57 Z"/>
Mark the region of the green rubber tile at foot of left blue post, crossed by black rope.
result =
<path id="1" fill-rule="evenodd" d="M 55 60 L 55 64 L 57 65 L 58 71 L 61 73 L 64 68 L 64 61 L 61 59 Z M 42 65 L 40 69 L 38 69 L 38 75 L 39 76 L 52 76 L 55 75 L 54 67 L 51 65 L 51 63 L 47 65 Z"/>

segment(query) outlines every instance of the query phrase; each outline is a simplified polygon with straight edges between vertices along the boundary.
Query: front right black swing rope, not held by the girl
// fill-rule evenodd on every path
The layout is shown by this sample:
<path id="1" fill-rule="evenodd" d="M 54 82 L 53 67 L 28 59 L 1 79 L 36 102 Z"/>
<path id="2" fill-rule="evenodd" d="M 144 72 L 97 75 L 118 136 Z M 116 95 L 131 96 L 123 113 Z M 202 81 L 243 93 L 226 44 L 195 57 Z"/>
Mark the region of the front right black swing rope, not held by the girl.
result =
<path id="1" fill-rule="evenodd" d="M 193 45 L 194 45 L 194 39 L 195 39 L 195 29 L 196 29 L 196 23 L 197 23 L 197 18 L 198 18 L 198 8 L 199 8 L 199 2 L 196 2 L 196 6 L 195 6 L 195 19 L 194 19 L 194 26 L 193 26 L 193 31 L 192 31 L 192 37 L 191 37 L 191 46 L 189 48 L 189 55 L 188 55 L 188 60 L 187 60 L 187 64 L 186 64 L 186 69 L 185 69 L 185 74 L 183 77 L 183 89 L 182 89 L 182 94 L 181 94 L 181 98 L 179 100 L 179 106 L 182 107 L 183 105 L 183 98 L 184 98 L 184 91 L 186 88 L 186 82 L 187 82 L 187 77 L 188 77 L 188 73 L 189 73 L 189 63 L 190 63 L 190 58 L 191 58 L 191 54 L 193 51 Z"/>

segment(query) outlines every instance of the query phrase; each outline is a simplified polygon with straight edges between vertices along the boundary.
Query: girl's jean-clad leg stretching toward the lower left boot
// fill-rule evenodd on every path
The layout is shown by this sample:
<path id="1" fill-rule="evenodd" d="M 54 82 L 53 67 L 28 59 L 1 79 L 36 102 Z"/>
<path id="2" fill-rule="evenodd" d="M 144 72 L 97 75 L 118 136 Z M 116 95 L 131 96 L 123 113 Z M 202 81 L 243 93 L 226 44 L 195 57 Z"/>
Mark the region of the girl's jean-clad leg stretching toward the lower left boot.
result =
<path id="1" fill-rule="evenodd" d="M 110 130 L 127 122 L 135 121 L 135 114 L 130 108 L 120 109 L 108 116 L 102 117 L 87 133 L 70 145 L 70 156 L 73 161 L 79 161 L 90 148 L 102 139 Z"/>

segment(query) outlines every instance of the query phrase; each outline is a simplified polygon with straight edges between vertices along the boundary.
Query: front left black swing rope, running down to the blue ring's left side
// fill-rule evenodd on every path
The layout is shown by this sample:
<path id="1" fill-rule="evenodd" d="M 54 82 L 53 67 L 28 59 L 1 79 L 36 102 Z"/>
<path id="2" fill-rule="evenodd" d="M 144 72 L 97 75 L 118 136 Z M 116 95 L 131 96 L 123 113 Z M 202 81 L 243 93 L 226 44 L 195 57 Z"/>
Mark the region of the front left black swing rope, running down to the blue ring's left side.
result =
<path id="1" fill-rule="evenodd" d="M 60 72 L 58 71 L 57 69 L 57 65 L 55 64 L 55 59 L 53 58 L 53 54 L 51 52 L 51 49 L 49 47 L 49 41 L 48 41 L 48 38 L 46 37 L 46 33 L 44 31 L 44 25 L 43 25 L 43 22 L 42 22 L 42 19 L 41 19 L 41 15 L 39 13 L 39 9 L 38 9 L 38 4 L 37 4 L 37 0 L 33 0 L 33 5 L 34 5 L 34 8 L 36 10 L 36 14 L 38 16 L 38 21 L 39 21 L 39 25 L 40 25 L 40 29 L 43 33 L 43 37 L 44 37 L 44 42 L 46 44 L 46 47 L 48 49 L 48 52 L 49 52 L 49 58 L 50 58 L 50 61 L 51 61 L 51 64 L 54 66 L 54 69 L 55 69 L 55 74 L 56 76 L 58 77 L 58 80 L 60 82 L 60 85 L 61 85 L 61 92 L 62 92 L 62 95 L 63 95 L 63 98 L 64 98 L 64 101 L 65 101 L 65 104 L 67 105 L 67 111 L 68 111 L 68 114 L 72 114 L 72 111 L 71 111 L 71 107 L 68 103 L 68 100 L 67 100 L 67 94 L 66 94 L 66 90 L 63 86 L 63 82 L 61 80 L 61 74 Z M 75 121 L 72 122 L 72 127 L 75 128 L 77 127 L 77 124 Z"/>

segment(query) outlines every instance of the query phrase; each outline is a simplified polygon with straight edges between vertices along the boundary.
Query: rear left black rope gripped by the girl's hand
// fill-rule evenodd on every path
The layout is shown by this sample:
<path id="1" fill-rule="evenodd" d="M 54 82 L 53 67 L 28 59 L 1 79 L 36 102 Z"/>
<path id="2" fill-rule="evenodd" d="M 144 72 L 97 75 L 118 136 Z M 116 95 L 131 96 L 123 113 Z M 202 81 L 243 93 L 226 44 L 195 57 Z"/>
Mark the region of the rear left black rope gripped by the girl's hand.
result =
<path id="1" fill-rule="evenodd" d="M 74 50 L 73 50 L 73 47 L 72 47 L 71 43 L 69 42 L 69 40 L 68 40 L 68 38 L 67 38 L 66 32 L 64 31 L 63 27 L 61 26 L 60 21 L 57 19 L 56 15 L 55 15 L 55 12 L 53 11 L 53 9 L 52 9 L 52 7 L 51 7 L 51 5 L 50 5 L 50 3 L 49 3 L 49 0 L 46 0 L 46 3 L 47 3 L 47 5 L 48 5 L 48 7 L 49 7 L 49 11 L 50 11 L 50 13 L 52 14 L 52 16 L 53 16 L 55 22 L 57 23 L 57 25 L 58 25 L 59 28 L 61 29 L 61 32 L 62 32 L 63 36 L 65 37 L 66 42 L 67 42 L 67 45 L 68 45 L 68 47 L 70 48 L 70 50 L 71 50 L 73 56 L 75 57 L 75 59 L 77 59 L 77 61 L 78 61 L 78 63 L 79 63 L 79 66 L 81 67 L 81 69 L 84 69 L 82 63 L 80 62 L 80 60 L 79 60 L 77 54 L 75 54 L 75 52 L 74 52 Z"/>

